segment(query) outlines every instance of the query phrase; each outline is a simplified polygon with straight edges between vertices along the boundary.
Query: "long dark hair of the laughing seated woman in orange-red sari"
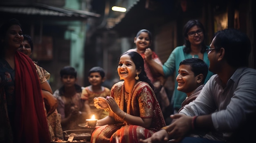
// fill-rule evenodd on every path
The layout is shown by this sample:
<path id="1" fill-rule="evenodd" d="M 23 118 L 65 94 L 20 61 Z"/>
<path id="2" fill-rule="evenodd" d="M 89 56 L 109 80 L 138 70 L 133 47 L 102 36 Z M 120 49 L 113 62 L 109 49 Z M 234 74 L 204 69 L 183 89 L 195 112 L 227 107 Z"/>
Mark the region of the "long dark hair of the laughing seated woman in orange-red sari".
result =
<path id="1" fill-rule="evenodd" d="M 148 83 L 149 86 L 153 90 L 155 90 L 155 86 L 151 83 L 151 81 L 148 79 L 148 77 L 146 75 L 146 72 L 144 70 L 144 60 L 141 57 L 141 55 L 139 55 L 139 53 L 133 52 L 133 51 L 132 52 L 123 53 L 122 55 L 129 55 L 130 56 L 130 59 L 134 62 L 135 66 L 136 66 L 136 69 L 139 70 L 141 68 L 141 72 L 138 75 L 139 76 L 139 80 Z M 119 60 L 118 60 L 118 62 L 119 62 Z"/>

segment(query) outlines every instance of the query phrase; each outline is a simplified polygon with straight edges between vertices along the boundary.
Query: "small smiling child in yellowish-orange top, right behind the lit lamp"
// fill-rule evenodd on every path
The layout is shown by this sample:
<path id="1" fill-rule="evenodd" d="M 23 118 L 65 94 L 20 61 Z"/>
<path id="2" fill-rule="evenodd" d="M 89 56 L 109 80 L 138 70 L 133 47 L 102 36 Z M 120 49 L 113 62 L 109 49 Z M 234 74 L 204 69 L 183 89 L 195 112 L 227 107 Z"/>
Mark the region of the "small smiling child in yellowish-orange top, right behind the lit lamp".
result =
<path id="1" fill-rule="evenodd" d="M 103 119 L 108 116 L 107 110 L 100 110 L 94 106 L 94 97 L 104 97 L 110 96 L 110 90 L 101 84 L 105 81 L 105 72 L 103 68 L 96 66 L 89 70 L 88 81 L 90 86 L 83 89 L 81 99 L 88 101 L 90 106 L 90 111 L 94 114 L 95 119 Z"/>

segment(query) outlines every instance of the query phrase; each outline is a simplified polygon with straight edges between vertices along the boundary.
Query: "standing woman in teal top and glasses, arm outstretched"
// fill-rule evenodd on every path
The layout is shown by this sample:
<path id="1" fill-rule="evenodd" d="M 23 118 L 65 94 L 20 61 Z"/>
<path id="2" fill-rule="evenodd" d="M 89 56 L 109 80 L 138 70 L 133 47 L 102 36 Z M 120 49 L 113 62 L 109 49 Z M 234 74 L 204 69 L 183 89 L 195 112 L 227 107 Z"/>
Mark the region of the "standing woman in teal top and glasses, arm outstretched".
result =
<path id="1" fill-rule="evenodd" d="M 206 62 L 207 66 L 209 66 L 209 59 L 207 56 L 206 49 L 209 46 L 204 44 L 204 26 L 198 20 L 189 20 L 183 29 L 183 35 L 185 37 L 185 44 L 183 46 L 176 47 L 167 61 L 163 66 L 154 62 L 151 58 L 151 50 L 147 49 L 145 53 L 146 62 L 153 68 L 155 68 L 159 73 L 164 75 L 164 77 L 168 77 L 175 72 L 175 77 L 178 75 L 180 62 L 184 59 L 189 58 L 199 58 Z M 207 77 L 205 79 L 205 83 L 209 80 L 209 78 L 213 75 L 212 72 L 208 72 Z M 176 79 L 176 78 L 175 78 Z M 204 84 L 205 84 L 204 83 Z M 182 83 L 179 83 L 182 84 Z M 184 92 L 180 92 L 177 90 L 178 83 L 175 80 L 175 88 L 173 91 L 173 108 L 174 113 L 176 113 L 181 108 L 181 103 L 186 98 L 186 94 Z"/>

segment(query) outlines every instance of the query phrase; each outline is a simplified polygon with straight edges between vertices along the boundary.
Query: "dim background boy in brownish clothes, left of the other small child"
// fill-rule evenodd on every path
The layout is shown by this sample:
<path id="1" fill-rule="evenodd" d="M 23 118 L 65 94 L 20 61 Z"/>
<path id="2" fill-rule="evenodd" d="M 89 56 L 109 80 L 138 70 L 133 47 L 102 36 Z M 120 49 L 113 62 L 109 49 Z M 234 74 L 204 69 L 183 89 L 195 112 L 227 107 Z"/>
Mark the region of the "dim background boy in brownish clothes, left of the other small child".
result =
<path id="1" fill-rule="evenodd" d="M 54 92 L 58 99 L 57 110 L 61 114 L 61 125 L 63 131 L 79 129 L 80 123 L 90 118 L 90 107 L 81 100 L 84 87 L 76 84 L 76 70 L 71 66 L 61 69 L 61 82 L 63 86 Z"/>

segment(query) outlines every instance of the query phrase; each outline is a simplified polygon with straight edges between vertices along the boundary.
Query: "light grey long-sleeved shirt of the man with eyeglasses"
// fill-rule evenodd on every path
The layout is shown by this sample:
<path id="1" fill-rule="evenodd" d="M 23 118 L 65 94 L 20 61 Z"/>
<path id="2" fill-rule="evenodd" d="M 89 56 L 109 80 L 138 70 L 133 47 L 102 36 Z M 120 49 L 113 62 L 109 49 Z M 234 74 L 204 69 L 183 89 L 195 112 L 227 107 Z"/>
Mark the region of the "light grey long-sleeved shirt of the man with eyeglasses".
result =
<path id="1" fill-rule="evenodd" d="M 243 132 L 246 126 L 255 124 L 252 117 L 256 117 L 256 70 L 239 68 L 225 88 L 221 85 L 218 75 L 213 75 L 195 101 L 180 113 L 188 116 L 211 114 L 214 128 L 222 132 L 223 137 L 230 137 L 235 130 Z"/>

